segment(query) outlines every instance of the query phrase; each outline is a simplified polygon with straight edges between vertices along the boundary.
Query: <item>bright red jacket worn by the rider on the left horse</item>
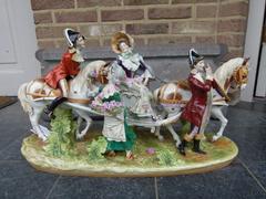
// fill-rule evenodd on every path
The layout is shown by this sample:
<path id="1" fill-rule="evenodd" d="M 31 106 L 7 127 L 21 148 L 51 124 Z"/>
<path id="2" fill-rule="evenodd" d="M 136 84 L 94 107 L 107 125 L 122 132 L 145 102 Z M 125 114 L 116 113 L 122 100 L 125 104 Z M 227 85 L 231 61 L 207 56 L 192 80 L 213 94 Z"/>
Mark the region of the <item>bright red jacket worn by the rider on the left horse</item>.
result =
<path id="1" fill-rule="evenodd" d="M 70 75 L 76 75 L 80 72 L 80 63 L 72 60 L 74 53 L 66 52 L 63 54 L 61 62 L 54 66 L 44 76 L 44 82 L 52 88 L 58 88 L 60 80 L 65 78 Z"/>

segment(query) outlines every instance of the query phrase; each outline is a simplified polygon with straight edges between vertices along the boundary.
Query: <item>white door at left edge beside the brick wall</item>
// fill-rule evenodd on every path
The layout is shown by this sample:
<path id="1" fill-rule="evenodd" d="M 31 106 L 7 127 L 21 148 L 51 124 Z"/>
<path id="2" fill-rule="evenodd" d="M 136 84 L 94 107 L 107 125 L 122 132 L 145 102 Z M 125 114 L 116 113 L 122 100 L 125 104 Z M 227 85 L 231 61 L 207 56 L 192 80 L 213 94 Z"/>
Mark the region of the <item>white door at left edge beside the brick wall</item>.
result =
<path id="1" fill-rule="evenodd" d="M 0 0 L 0 95 L 17 95 L 19 85 L 41 74 L 30 0 Z"/>

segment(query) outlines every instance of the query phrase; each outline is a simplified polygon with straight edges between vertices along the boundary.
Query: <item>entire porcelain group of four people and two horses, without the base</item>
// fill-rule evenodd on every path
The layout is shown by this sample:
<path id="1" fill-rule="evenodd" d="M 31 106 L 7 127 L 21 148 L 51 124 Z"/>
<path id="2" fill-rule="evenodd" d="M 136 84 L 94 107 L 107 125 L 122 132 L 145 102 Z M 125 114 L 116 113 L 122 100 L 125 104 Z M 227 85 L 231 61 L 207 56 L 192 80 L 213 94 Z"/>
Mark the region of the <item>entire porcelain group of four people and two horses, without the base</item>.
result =
<path id="1" fill-rule="evenodd" d="M 48 139 L 50 130 L 39 124 L 42 112 L 53 118 L 54 108 L 63 104 L 78 115 L 78 139 L 88 133 L 92 123 L 91 114 L 104 116 L 102 135 L 108 142 L 106 156 L 125 151 L 127 159 L 134 158 L 136 135 L 133 126 L 151 128 L 160 139 L 163 139 L 161 126 L 165 126 L 181 155 L 186 155 L 190 142 L 193 142 L 193 151 L 204 155 L 206 151 L 201 148 L 201 140 L 211 115 L 222 122 L 218 133 L 213 137 L 215 142 L 223 135 L 227 124 L 222 107 L 228 105 L 228 92 L 241 91 L 247 84 L 247 59 L 232 59 L 213 72 L 204 57 L 191 49 L 187 80 L 174 80 L 152 92 L 149 81 L 156 75 L 142 55 L 134 52 L 131 35 L 125 32 L 113 35 L 111 46 L 117 54 L 116 60 L 111 63 L 94 61 L 83 69 L 80 67 L 84 62 L 81 48 L 84 48 L 85 38 L 72 29 L 65 29 L 64 36 L 69 49 L 61 62 L 42 78 L 19 88 L 18 96 L 23 109 L 29 113 L 32 132 L 43 142 Z M 156 108 L 158 105 L 163 111 Z M 80 130 L 82 121 L 86 125 Z M 172 126 L 177 121 L 191 124 L 191 130 L 182 138 Z"/>

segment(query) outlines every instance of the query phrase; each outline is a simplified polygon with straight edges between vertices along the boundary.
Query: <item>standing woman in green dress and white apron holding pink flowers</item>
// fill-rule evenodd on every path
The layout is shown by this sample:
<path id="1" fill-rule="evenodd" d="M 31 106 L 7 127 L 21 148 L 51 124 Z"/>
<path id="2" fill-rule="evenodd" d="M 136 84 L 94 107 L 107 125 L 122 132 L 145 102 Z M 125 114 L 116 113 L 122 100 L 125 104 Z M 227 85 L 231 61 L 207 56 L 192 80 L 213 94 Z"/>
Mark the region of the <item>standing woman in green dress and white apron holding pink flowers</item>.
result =
<path id="1" fill-rule="evenodd" d="M 92 107 L 104 115 L 102 134 L 106 138 L 108 156 L 115 156 L 116 151 L 125 151 L 126 159 L 133 159 L 133 147 L 136 135 L 126 122 L 126 109 L 123 106 L 120 95 L 119 84 L 124 76 L 122 69 L 111 67 L 108 80 L 109 83 L 103 87 L 92 102 Z"/>

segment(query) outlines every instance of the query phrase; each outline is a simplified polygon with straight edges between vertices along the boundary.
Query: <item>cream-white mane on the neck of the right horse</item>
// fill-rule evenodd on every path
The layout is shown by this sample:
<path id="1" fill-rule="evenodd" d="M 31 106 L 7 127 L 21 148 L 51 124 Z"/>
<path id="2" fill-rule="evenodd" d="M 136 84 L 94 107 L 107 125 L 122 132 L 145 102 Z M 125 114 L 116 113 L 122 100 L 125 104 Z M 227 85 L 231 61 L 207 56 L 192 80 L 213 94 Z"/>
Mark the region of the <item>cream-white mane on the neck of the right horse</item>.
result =
<path id="1" fill-rule="evenodd" d="M 224 87 L 226 80 L 233 75 L 235 69 L 243 64 L 243 57 L 235 57 L 222 64 L 214 73 L 216 82 Z"/>

